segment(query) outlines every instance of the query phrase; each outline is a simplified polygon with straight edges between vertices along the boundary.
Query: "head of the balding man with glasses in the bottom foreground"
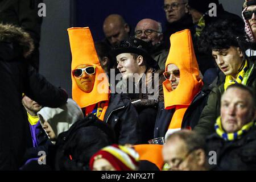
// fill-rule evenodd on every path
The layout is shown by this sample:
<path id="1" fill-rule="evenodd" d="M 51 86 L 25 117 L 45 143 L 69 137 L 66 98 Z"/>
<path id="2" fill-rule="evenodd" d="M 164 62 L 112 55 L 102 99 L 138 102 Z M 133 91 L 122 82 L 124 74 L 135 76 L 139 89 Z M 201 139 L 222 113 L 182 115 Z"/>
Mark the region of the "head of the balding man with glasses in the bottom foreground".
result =
<path id="1" fill-rule="evenodd" d="M 163 146 L 164 168 L 170 171 L 205 171 L 208 161 L 205 140 L 193 131 L 181 130 L 170 135 Z"/>

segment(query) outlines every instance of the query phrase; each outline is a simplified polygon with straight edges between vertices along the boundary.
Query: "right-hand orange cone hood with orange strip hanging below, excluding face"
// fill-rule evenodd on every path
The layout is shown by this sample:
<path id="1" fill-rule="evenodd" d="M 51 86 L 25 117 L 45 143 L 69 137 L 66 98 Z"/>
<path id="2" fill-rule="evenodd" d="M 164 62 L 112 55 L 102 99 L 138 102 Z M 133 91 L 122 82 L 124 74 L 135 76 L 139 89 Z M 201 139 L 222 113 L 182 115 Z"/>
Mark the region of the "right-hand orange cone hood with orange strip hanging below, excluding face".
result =
<path id="1" fill-rule="evenodd" d="M 166 137 L 180 130 L 185 111 L 203 86 L 203 81 L 199 77 L 191 32 L 189 30 L 176 32 L 171 35 L 170 41 L 171 48 L 166 61 L 166 71 L 169 64 L 175 64 L 180 70 L 180 81 L 175 90 L 171 89 L 169 80 L 163 82 L 164 107 L 165 109 L 175 108 Z"/>

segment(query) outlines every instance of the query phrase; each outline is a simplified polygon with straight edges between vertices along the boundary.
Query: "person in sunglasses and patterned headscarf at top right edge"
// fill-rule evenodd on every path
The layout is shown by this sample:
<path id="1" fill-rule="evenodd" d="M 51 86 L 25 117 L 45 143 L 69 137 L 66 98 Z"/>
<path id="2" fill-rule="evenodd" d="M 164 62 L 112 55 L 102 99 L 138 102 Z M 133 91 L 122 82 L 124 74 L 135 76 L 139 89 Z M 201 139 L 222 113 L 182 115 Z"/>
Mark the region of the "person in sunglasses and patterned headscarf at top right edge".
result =
<path id="1" fill-rule="evenodd" d="M 246 0 L 243 3 L 242 17 L 245 21 L 245 32 L 251 42 L 256 41 L 256 1 Z"/>

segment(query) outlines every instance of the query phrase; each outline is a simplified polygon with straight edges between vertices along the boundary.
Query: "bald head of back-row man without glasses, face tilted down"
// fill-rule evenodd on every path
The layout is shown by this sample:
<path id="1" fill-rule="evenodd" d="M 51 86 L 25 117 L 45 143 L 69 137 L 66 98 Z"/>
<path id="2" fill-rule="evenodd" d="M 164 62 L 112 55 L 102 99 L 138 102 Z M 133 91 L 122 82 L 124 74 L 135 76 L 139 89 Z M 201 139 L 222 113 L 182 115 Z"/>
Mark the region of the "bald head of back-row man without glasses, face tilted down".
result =
<path id="1" fill-rule="evenodd" d="M 129 37 L 130 27 L 118 14 L 109 15 L 103 23 L 103 31 L 112 46 Z"/>

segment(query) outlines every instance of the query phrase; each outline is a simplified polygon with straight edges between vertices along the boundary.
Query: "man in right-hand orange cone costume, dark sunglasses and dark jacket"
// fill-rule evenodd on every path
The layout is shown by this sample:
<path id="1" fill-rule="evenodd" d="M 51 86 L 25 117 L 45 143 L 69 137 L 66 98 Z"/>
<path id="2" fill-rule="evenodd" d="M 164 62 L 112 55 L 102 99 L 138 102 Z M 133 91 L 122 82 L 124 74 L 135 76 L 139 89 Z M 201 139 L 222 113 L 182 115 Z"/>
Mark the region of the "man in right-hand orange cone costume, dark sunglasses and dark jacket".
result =
<path id="1" fill-rule="evenodd" d="M 200 92 L 203 81 L 200 78 L 189 30 L 171 35 L 171 49 L 164 77 L 164 102 L 159 103 L 154 138 L 167 138 L 181 127 L 191 128 L 200 115 L 204 101 L 204 95 Z"/>

